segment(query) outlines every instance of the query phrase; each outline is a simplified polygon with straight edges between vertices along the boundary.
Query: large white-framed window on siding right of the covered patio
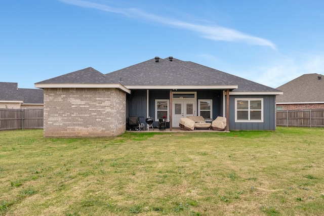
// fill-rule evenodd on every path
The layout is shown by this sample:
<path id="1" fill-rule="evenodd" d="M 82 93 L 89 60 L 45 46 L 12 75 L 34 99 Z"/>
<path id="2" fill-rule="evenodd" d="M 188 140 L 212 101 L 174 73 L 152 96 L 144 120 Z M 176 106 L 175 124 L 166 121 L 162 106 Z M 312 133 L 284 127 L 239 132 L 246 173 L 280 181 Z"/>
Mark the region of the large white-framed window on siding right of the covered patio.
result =
<path id="1" fill-rule="evenodd" d="M 263 99 L 235 99 L 235 122 L 263 122 Z"/>

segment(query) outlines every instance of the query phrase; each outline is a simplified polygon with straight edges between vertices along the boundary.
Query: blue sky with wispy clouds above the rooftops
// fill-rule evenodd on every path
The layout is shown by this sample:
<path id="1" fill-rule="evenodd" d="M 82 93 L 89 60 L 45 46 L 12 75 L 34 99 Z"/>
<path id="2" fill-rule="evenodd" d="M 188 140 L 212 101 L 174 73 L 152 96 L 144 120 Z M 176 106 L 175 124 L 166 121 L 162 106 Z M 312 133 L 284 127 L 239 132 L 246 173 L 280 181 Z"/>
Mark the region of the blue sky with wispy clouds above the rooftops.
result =
<path id="1" fill-rule="evenodd" d="M 19 88 L 155 56 L 277 88 L 324 70 L 321 0 L 0 0 L 1 82 Z"/>

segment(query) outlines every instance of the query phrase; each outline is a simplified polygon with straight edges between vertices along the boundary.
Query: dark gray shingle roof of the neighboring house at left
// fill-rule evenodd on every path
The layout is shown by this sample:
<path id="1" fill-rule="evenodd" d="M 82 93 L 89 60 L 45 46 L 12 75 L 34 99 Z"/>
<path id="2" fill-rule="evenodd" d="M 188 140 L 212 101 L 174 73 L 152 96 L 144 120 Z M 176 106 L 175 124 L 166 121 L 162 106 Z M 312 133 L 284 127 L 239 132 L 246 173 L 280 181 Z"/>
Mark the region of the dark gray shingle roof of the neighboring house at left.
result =
<path id="1" fill-rule="evenodd" d="M 43 104 L 41 89 L 19 89 L 17 82 L 0 82 L 0 101 L 24 104 Z"/>

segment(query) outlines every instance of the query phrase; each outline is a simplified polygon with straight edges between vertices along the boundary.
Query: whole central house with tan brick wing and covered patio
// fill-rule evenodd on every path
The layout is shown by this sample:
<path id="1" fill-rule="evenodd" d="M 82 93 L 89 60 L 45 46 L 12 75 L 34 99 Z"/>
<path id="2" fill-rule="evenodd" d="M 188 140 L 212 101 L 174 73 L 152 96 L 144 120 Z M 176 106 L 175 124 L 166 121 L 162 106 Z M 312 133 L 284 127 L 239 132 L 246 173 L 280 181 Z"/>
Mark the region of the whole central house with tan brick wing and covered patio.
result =
<path id="1" fill-rule="evenodd" d="M 201 115 L 227 118 L 227 130 L 275 129 L 282 92 L 194 62 L 172 57 L 108 74 L 89 67 L 35 83 L 44 89 L 44 136 L 117 136 L 129 116 L 170 120 Z"/>

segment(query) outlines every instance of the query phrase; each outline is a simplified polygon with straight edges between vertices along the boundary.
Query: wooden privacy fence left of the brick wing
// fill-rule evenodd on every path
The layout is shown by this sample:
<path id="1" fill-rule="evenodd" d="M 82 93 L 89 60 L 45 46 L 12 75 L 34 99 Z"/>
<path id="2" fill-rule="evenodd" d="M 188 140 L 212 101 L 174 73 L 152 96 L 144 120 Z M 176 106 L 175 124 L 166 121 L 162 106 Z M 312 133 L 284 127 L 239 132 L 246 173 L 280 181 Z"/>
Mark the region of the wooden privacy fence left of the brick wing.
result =
<path id="1" fill-rule="evenodd" d="M 44 109 L 0 109 L 0 130 L 43 128 Z"/>

